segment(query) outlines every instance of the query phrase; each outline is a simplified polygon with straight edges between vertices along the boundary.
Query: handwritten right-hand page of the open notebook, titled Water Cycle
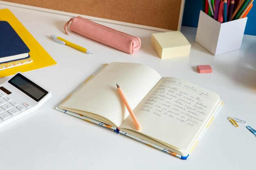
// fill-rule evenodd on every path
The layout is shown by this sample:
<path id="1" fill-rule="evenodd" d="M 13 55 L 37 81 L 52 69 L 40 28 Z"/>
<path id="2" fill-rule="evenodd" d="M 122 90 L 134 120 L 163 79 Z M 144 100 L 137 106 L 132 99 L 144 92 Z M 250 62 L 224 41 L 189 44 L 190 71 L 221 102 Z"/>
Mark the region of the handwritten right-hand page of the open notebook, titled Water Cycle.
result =
<path id="1" fill-rule="evenodd" d="M 213 113 L 219 98 L 218 94 L 190 82 L 166 77 L 134 110 L 141 130 L 135 130 L 130 116 L 120 128 L 135 130 L 178 150 L 187 150 Z"/>

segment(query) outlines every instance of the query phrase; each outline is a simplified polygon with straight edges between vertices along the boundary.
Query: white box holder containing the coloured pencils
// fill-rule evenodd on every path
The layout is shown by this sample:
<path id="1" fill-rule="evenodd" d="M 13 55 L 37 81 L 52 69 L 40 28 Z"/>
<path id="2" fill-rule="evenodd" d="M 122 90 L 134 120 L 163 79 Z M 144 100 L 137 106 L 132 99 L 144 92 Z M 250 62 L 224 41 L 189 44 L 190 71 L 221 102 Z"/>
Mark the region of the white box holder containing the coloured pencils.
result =
<path id="1" fill-rule="evenodd" d="M 200 11 L 195 42 L 213 55 L 240 49 L 246 22 L 247 17 L 220 23 Z"/>

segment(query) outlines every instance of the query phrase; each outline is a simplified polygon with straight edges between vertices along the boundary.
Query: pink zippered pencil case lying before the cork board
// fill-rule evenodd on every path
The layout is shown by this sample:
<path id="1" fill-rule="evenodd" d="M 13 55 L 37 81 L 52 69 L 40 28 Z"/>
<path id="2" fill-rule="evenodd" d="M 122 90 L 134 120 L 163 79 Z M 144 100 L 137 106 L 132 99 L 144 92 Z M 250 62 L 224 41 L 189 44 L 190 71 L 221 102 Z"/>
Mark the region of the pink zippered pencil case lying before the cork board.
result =
<path id="1" fill-rule="evenodd" d="M 65 33 L 67 35 L 67 26 L 70 22 L 71 31 L 126 53 L 132 54 L 138 51 L 141 46 L 141 40 L 138 37 L 97 24 L 80 16 L 70 18 L 65 24 Z"/>

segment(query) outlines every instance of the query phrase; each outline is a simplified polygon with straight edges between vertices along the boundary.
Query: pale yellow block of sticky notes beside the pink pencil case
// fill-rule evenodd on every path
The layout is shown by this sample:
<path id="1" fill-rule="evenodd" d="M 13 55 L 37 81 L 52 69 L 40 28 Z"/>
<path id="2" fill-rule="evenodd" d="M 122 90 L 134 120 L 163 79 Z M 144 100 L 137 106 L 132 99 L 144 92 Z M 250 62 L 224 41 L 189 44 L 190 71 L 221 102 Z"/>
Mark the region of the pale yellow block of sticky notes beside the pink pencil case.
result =
<path id="1" fill-rule="evenodd" d="M 160 58 L 187 56 L 191 47 L 180 31 L 154 33 L 151 35 L 151 45 Z"/>

